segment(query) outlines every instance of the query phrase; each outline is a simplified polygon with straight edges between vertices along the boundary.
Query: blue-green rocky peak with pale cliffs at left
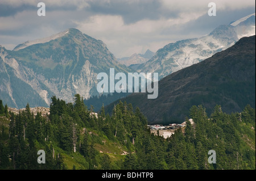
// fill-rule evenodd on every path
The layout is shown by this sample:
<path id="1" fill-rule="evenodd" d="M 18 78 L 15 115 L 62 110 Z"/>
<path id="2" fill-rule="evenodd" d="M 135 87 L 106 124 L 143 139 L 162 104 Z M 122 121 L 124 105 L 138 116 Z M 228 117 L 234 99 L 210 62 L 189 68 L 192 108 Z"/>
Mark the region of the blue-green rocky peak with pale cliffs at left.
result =
<path id="1" fill-rule="evenodd" d="M 108 74 L 109 68 L 128 70 L 118 64 L 101 40 L 74 28 L 28 41 L 13 51 L 1 48 L 0 57 L 1 99 L 16 108 L 27 102 L 31 106 L 49 106 L 53 95 L 68 102 L 75 94 L 89 98 L 97 94 L 98 73 Z"/>

